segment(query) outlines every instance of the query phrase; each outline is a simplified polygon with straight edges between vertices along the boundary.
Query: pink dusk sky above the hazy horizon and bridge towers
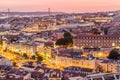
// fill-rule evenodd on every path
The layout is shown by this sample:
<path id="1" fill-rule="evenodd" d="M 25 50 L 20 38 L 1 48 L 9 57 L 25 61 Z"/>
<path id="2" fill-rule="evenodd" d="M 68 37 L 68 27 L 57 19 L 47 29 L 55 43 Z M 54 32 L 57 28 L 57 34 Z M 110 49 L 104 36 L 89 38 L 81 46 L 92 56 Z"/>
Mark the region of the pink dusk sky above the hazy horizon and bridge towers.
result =
<path id="1" fill-rule="evenodd" d="M 0 11 L 96 12 L 120 10 L 120 0 L 0 0 Z"/>

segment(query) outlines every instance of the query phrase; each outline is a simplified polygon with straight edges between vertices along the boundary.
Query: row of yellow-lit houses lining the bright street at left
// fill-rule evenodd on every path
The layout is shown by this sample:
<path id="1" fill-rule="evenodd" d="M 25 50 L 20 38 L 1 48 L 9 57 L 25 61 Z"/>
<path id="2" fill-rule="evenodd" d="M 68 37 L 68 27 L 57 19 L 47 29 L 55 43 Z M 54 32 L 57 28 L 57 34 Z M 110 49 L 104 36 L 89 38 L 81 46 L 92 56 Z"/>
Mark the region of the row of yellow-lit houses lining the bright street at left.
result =
<path id="1" fill-rule="evenodd" d="M 28 56 L 35 55 L 37 52 L 40 53 L 47 53 L 51 55 L 53 48 L 49 42 L 13 42 L 8 43 L 7 41 L 3 41 L 2 49 L 9 50 L 11 52 L 20 53 L 20 54 L 27 54 Z M 42 45 L 41 45 L 42 44 Z M 44 45 L 44 46 L 43 46 Z"/>

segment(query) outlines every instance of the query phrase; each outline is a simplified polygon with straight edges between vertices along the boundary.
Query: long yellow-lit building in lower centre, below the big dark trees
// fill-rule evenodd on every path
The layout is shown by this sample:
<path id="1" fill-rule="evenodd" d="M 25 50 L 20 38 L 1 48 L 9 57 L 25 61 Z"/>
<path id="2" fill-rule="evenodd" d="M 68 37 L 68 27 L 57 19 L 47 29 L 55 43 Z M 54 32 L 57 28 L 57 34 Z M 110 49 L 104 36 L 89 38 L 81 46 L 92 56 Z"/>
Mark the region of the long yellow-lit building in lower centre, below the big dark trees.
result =
<path id="1" fill-rule="evenodd" d="M 69 66 L 77 66 L 77 67 L 83 67 L 83 68 L 95 68 L 95 60 L 87 60 L 84 58 L 71 58 L 71 57 L 65 57 L 65 56 L 56 56 L 56 63 L 60 64 L 64 67 Z"/>

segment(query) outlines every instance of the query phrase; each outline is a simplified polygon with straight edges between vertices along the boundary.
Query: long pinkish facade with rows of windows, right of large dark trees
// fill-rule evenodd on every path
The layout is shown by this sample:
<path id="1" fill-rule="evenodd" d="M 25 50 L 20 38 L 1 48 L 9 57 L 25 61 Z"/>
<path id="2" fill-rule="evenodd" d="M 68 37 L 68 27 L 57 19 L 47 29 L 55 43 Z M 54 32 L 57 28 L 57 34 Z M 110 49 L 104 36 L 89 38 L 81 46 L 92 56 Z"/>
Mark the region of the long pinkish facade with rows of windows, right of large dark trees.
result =
<path id="1" fill-rule="evenodd" d="M 73 38 L 76 48 L 111 48 L 120 46 L 119 35 L 77 35 Z"/>

